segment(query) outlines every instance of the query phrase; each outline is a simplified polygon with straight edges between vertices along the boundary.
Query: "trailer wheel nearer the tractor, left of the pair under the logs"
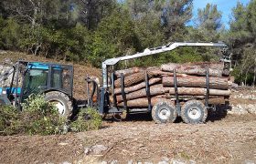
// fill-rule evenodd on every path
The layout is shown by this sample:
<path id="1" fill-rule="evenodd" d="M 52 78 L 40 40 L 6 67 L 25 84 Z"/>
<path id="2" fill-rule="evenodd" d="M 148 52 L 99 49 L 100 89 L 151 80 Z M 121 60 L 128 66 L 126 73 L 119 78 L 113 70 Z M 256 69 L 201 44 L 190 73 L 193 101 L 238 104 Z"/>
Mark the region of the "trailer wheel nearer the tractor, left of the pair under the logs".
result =
<path id="1" fill-rule="evenodd" d="M 177 117 L 176 108 L 166 101 L 158 102 L 152 109 L 151 115 L 157 124 L 174 122 Z"/>

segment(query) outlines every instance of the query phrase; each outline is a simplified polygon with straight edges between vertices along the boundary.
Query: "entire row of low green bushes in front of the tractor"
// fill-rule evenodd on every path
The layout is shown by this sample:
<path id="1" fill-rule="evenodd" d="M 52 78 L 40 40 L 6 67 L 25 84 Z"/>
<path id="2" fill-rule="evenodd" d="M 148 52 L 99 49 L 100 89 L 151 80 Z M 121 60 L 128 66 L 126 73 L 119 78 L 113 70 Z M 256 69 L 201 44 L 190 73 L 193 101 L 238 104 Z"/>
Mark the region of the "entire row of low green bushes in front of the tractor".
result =
<path id="1" fill-rule="evenodd" d="M 82 109 L 74 121 L 69 121 L 61 117 L 57 108 L 46 102 L 42 95 L 29 96 L 22 107 L 22 112 L 12 107 L 0 107 L 0 135 L 53 135 L 101 127 L 101 116 L 95 109 Z"/>

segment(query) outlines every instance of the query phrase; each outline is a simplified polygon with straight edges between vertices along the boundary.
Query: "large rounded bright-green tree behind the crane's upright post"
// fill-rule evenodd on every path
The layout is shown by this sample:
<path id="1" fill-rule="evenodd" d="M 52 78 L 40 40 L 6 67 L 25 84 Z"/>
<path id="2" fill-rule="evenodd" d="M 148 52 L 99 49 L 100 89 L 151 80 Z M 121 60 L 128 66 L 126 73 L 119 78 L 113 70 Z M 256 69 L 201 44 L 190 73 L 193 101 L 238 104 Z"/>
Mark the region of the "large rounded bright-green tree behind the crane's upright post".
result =
<path id="1" fill-rule="evenodd" d="M 93 66 L 100 67 L 107 58 L 123 56 L 136 47 L 133 22 L 126 11 L 116 10 L 104 18 L 93 35 L 92 54 L 89 57 Z"/>

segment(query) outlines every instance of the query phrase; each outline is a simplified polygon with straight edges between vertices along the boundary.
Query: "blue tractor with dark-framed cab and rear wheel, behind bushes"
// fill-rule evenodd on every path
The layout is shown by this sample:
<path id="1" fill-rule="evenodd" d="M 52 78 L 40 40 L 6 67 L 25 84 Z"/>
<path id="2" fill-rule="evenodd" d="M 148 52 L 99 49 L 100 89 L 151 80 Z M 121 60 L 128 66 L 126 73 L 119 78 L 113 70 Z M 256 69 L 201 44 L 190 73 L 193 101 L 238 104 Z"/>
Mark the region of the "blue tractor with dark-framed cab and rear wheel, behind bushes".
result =
<path id="1" fill-rule="evenodd" d="M 41 62 L 18 61 L 0 77 L 0 82 L 10 79 L 8 86 L 0 87 L 0 105 L 21 104 L 31 94 L 45 94 L 59 114 L 69 117 L 73 109 L 73 67 Z"/>

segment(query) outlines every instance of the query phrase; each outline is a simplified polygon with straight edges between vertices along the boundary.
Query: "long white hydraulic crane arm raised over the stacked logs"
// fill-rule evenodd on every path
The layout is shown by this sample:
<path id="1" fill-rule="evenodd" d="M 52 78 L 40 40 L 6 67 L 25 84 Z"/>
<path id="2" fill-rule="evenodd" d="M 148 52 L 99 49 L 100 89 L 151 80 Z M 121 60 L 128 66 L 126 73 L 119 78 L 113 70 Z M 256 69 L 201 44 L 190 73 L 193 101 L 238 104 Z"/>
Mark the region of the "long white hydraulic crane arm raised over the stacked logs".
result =
<path id="1" fill-rule="evenodd" d="M 144 52 L 142 53 L 137 53 L 131 56 L 121 56 L 121 57 L 116 57 L 116 58 L 110 58 L 105 60 L 102 63 L 102 79 L 103 79 L 103 84 L 102 87 L 108 87 L 108 73 L 107 73 L 107 67 L 109 66 L 114 66 L 118 62 L 123 61 L 123 60 L 129 60 L 133 58 L 138 58 L 142 56 L 151 56 L 159 53 L 164 53 L 167 51 L 172 51 L 176 49 L 178 46 L 215 46 L 215 47 L 228 47 L 224 43 L 189 43 L 189 42 L 175 42 L 175 43 L 169 43 L 166 46 L 159 46 L 155 48 L 150 48 L 150 49 L 145 49 Z"/>

